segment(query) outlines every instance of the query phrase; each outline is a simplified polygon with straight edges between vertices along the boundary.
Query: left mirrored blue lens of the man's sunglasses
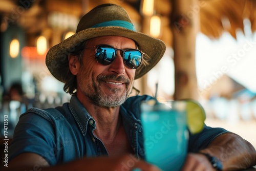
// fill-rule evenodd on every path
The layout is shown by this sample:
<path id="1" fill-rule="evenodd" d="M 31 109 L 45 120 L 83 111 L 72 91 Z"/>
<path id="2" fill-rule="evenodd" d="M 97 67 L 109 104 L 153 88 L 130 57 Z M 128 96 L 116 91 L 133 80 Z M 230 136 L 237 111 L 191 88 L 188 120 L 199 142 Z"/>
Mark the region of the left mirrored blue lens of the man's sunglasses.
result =
<path id="1" fill-rule="evenodd" d="M 102 65 L 110 65 L 113 62 L 116 55 L 115 49 L 109 46 L 98 46 L 96 49 L 96 60 Z"/>

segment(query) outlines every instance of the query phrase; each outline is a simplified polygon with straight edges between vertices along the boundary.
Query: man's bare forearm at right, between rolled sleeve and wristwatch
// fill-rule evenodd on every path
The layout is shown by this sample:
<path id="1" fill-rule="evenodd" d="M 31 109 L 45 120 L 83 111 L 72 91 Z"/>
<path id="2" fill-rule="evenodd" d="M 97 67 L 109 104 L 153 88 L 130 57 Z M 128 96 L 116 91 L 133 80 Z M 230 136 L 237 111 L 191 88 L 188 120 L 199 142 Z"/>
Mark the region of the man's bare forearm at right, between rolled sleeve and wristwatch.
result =
<path id="1" fill-rule="evenodd" d="M 239 170 L 256 165 L 255 148 L 233 133 L 218 136 L 201 152 L 219 158 L 223 164 L 223 170 Z"/>

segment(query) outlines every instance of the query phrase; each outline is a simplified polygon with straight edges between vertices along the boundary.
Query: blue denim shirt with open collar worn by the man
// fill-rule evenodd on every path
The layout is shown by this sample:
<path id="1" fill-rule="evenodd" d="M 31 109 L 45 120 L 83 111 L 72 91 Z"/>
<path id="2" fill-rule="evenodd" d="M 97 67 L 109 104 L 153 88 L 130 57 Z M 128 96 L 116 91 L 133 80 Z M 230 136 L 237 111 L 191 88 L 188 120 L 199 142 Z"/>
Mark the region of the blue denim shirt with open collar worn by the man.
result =
<path id="1" fill-rule="evenodd" d="M 151 96 L 134 96 L 120 106 L 125 132 L 134 154 L 144 159 L 140 103 Z M 76 96 L 57 108 L 29 109 L 19 118 L 9 147 L 9 161 L 30 152 L 42 156 L 50 165 L 66 163 L 82 157 L 108 156 L 94 134 L 97 123 Z M 200 134 L 189 135 L 188 152 L 197 152 L 218 135 L 227 131 L 205 125 Z"/>

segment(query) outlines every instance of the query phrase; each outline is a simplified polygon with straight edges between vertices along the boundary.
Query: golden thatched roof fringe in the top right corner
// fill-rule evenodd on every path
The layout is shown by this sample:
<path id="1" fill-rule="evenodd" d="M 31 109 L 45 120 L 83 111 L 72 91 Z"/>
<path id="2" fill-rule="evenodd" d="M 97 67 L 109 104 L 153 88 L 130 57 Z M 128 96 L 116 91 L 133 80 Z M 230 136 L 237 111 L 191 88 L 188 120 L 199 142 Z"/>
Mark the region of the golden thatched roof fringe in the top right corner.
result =
<path id="1" fill-rule="evenodd" d="M 254 0 L 208 0 L 201 8 L 201 32 L 209 37 L 218 38 L 228 31 L 236 38 L 236 31 L 244 31 L 251 25 L 256 30 L 256 1 Z M 245 20 L 248 19 L 248 20 Z"/>

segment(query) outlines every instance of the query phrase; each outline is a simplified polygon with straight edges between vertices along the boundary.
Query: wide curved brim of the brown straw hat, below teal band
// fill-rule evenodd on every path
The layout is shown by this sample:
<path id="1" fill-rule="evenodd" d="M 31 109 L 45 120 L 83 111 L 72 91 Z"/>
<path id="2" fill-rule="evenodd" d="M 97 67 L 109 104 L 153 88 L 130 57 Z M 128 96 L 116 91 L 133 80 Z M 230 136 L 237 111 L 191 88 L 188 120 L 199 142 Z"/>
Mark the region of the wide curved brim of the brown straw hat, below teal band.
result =
<path id="1" fill-rule="evenodd" d="M 69 71 L 68 54 L 83 41 L 99 36 L 123 36 L 133 39 L 138 49 L 149 56 L 148 65 L 140 65 L 136 69 L 135 79 L 150 71 L 164 55 L 166 46 L 160 39 L 135 32 L 123 27 L 98 27 L 82 30 L 71 37 L 53 46 L 46 55 L 46 65 L 52 75 L 61 82 L 66 83 Z"/>

